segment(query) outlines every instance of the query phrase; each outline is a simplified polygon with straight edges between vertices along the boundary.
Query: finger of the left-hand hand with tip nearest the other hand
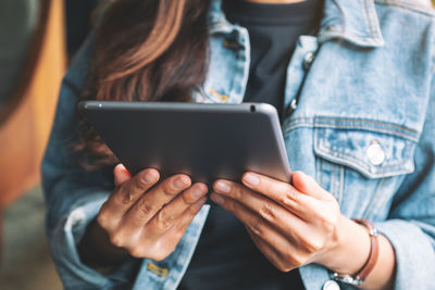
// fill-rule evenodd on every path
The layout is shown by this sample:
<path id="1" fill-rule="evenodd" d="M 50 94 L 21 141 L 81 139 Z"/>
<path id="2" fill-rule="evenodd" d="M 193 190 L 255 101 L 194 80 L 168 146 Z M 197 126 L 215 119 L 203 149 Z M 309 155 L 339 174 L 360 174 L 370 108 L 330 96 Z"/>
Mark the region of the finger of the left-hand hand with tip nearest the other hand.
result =
<path id="1" fill-rule="evenodd" d="M 188 207 L 207 194 L 204 184 L 195 184 L 173 201 L 163 206 L 146 226 L 147 232 L 153 236 L 163 235 L 181 218 Z"/>

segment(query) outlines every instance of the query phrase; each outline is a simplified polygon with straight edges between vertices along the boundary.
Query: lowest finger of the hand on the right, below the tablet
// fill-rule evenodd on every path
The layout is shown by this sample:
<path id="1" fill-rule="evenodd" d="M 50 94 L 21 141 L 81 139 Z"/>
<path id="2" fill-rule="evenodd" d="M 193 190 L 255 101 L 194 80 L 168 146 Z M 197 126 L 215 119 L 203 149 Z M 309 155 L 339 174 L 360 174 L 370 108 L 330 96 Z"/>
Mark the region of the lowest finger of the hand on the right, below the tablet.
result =
<path id="1" fill-rule="evenodd" d="M 233 213 L 254 236 L 261 238 L 271 248 L 275 249 L 275 251 L 277 251 L 282 256 L 282 261 L 290 263 L 291 265 L 303 264 L 304 257 L 299 254 L 299 251 L 297 250 L 297 239 L 290 241 L 269 223 L 265 223 L 260 216 L 256 215 L 235 200 L 216 193 L 212 193 L 211 199 L 228 212 Z"/>

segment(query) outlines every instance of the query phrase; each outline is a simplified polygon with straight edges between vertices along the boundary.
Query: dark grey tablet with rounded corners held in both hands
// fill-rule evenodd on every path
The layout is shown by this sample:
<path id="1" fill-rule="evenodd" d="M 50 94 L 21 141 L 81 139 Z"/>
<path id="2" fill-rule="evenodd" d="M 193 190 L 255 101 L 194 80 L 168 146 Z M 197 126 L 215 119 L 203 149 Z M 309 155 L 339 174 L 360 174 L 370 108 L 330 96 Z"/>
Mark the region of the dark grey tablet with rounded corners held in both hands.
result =
<path id="1" fill-rule="evenodd" d="M 211 185 L 247 172 L 289 181 L 274 106 L 85 101 L 79 112 L 130 174 L 148 167 Z"/>

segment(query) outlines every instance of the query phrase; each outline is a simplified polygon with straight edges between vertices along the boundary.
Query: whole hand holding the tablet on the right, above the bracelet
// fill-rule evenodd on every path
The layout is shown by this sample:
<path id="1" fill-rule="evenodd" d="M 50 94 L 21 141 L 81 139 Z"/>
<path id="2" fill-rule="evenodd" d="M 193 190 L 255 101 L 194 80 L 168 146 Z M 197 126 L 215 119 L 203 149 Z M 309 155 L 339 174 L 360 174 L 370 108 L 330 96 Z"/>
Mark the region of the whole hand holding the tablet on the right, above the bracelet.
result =
<path id="1" fill-rule="evenodd" d="M 211 199 L 245 224 L 259 250 L 279 270 L 326 265 L 340 240 L 343 215 L 334 197 L 301 173 L 293 186 L 246 173 L 243 185 L 216 180 Z"/>

